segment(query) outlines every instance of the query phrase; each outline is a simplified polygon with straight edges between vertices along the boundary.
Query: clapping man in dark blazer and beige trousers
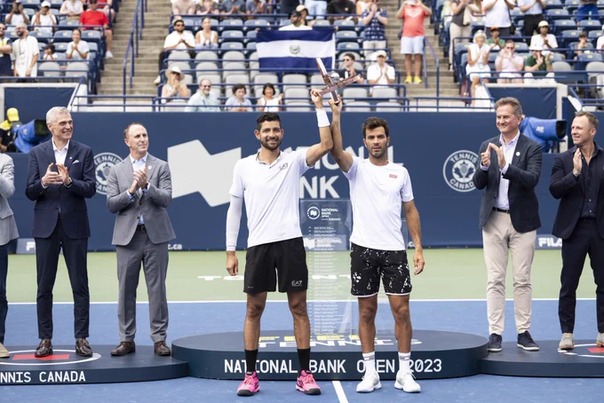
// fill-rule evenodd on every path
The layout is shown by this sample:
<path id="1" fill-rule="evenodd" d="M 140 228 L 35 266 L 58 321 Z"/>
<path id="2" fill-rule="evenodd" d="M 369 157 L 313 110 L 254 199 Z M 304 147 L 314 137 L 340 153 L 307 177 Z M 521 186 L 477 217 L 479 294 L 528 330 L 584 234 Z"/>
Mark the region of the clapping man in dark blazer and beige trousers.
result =
<path id="1" fill-rule="evenodd" d="M 500 136 L 481 145 L 481 166 L 475 171 L 482 195 L 481 221 L 484 259 L 487 264 L 489 352 L 500 352 L 505 320 L 505 271 L 512 251 L 513 300 L 518 347 L 537 351 L 528 333 L 532 289 L 530 270 L 535 256 L 539 203 L 535 186 L 541 173 L 541 146 L 519 130 L 522 107 L 518 99 L 503 98 L 495 104 Z"/>

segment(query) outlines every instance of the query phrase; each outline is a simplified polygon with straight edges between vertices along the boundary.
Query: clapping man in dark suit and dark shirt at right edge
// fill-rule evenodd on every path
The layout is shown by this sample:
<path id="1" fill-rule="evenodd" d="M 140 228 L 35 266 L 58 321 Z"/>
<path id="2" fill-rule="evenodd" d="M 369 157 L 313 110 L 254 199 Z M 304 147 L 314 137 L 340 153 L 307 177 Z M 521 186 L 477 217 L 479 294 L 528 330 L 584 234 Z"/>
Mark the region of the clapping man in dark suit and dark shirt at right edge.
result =
<path id="1" fill-rule="evenodd" d="M 558 316 L 561 350 L 575 347 L 576 288 L 589 254 L 596 282 L 598 337 L 604 347 L 604 154 L 593 138 L 598 119 L 589 112 L 576 114 L 570 129 L 575 146 L 556 155 L 550 193 L 560 199 L 552 233 L 562 239 L 562 273 Z"/>

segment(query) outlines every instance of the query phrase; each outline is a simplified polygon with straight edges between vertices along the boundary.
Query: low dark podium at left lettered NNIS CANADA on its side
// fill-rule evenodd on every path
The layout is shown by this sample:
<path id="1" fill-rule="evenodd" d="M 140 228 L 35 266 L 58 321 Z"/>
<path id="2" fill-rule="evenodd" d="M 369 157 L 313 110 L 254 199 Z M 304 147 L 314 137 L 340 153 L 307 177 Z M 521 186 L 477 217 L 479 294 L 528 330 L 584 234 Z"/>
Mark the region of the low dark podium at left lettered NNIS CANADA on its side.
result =
<path id="1" fill-rule="evenodd" d="M 158 381 L 188 375 L 187 362 L 158 357 L 153 346 L 137 345 L 136 352 L 111 357 L 115 346 L 92 345 L 92 357 L 76 355 L 73 346 L 54 346 L 52 355 L 37 359 L 36 350 L 11 347 L 0 359 L 0 385 L 121 383 Z"/>

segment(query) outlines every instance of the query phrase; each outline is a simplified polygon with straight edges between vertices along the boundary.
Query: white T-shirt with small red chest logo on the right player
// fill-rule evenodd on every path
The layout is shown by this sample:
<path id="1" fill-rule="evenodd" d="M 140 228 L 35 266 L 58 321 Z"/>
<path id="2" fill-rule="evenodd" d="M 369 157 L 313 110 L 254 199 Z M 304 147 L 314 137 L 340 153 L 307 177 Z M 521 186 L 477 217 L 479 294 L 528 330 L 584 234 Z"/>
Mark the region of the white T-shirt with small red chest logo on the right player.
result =
<path id="1" fill-rule="evenodd" d="M 407 169 L 393 162 L 377 166 L 369 159 L 353 157 L 353 165 L 344 175 L 353 205 L 350 241 L 364 248 L 404 250 L 401 201 L 413 200 Z"/>

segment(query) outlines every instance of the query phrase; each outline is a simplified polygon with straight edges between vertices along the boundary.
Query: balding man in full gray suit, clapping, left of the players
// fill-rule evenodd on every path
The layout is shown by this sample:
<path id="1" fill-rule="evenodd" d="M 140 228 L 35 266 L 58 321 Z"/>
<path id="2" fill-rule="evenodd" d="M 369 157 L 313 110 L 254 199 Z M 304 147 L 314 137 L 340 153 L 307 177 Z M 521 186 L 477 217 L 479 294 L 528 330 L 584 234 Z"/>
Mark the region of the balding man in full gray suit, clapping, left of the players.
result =
<path id="1" fill-rule="evenodd" d="M 147 129 L 131 123 L 123 130 L 123 141 L 130 155 L 116 164 L 107 179 L 107 209 L 117 213 L 112 243 L 117 252 L 120 345 L 111 355 L 126 355 L 136 350 L 136 289 L 140 264 L 143 265 L 149 296 L 151 339 L 156 355 L 171 355 L 166 345 L 168 300 L 168 241 L 176 238 L 166 208 L 172 201 L 172 182 L 168 162 L 147 153 Z"/>

